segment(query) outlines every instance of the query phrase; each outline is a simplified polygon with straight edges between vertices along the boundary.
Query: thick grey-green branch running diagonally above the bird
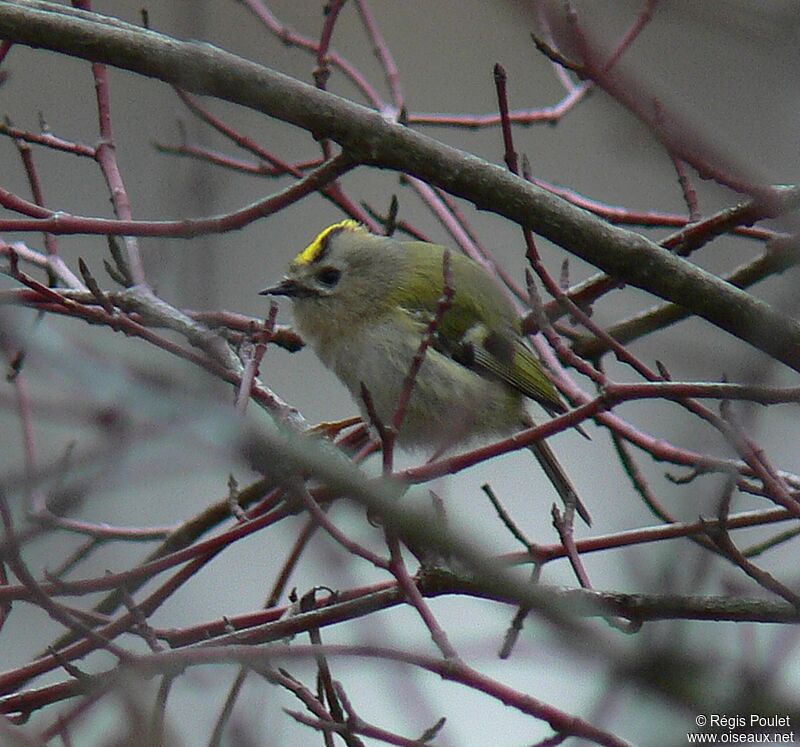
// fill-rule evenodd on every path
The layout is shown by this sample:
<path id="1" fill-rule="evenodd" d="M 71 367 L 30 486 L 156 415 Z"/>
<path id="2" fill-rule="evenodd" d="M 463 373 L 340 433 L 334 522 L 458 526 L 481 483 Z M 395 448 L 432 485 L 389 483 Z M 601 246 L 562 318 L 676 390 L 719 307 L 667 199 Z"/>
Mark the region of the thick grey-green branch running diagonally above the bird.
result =
<path id="1" fill-rule="evenodd" d="M 364 164 L 411 174 L 530 228 L 616 279 L 684 306 L 800 371 L 800 324 L 793 319 L 643 236 L 378 112 L 209 44 L 38 0 L 0 2 L 0 37 L 216 96 L 331 139 Z M 773 192 L 775 212 L 798 200 L 794 189 Z"/>

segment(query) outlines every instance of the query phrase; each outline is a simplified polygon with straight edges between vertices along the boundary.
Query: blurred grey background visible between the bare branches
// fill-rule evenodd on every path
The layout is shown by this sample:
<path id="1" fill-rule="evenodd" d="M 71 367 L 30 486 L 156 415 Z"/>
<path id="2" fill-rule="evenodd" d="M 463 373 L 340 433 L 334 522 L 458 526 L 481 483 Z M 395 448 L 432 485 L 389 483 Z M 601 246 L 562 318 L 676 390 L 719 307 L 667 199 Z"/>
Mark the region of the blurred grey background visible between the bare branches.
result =
<path id="1" fill-rule="evenodd" d="M 138 0 L 98 0 L 94 9 L 140 23 L 141 5 Z M 282 24 L 312 39 L 319 38 L 323 24 L 321 3 L 276 0 L 268 6 Z M 610 51 L 636 18 L 642 3 L 586 1 L 575 2 L 574 6 L 591 39 L 599 48 Z M 508 74 L 513 109 L 555 105 L 564 95 L 552 65 L 537 52 L 531 40 L 531 31 L 536 30 L 532 2 L 373 0 L 370 7 L 399 68 L 405 103 L 411 113 L 495 112 L 492 69 L 498 62 Z M 151 5 L 148 11 L 149 24 L 154 30 L 207 41 L 313 83 L 314 56 L 283 44 L 255 21 L 243 3 L 164 0 Z M 800 172 L 800 86 L 797 84 L 800 14 L 797 11 L 795 0 L 716 3 L 662 0 L 651 23 L 619 65 L 657 96 L 666 110 L 679 112 L 704 138 L 755 179 L 797 183 Z M 361 70 L 388 99 L 383 73 L 353 3 L 347 3 L 342 11 L 332 48 Z M 15 47 L 2 69 L 9 76 L 0 87 L 2 111 L 16 126 L 38 131 L 41 113 L 54 134 L 77 141 L 95 141 L 97 121 L 88 64 Z M 246 157 L 194 119 L 169 86 L 113 69 L 109 70 L 109 76 L 118 157 L 135 218 L 175 220 L 227 213 L 291 183 L 289 177 L 244 175 L 160 152 L 155 143 L 176 145 L 185 129 L 189 142 Z M 328 89 L 361 101 L 358 91 L 337 71 Z M 305 132 L 224 102 L 206 103 L 226 122 L 288 161 L 319 155 L 319 146 Z M 477 129 L 419 126 L 419 129 L 502 164 L 502 137 L 496 126 Z M 663 148 L 630 113 L 600 91 L 592 92 L 555 126 L 515 127 L 514 132 L 516 148 L 527 154 L 536 178 L 631 210 L 686 212 L 675 169 Z M 93 163 L 42 149 L 36 150 L 35 157 L 49 207 L 80 215 L 111 215 L 105 185 Z M 740 199 L 729 190 L 700 180 L 694 173 L 691 178 L 704 215 Z M 0 180 L 5 189 L 29 196 L 24 169 L 8 139 L 0 140 Z M 397 195 L 402 220 L 438 243 L 453 244 L 436 217 L 397 174 L 361 168 L 344 177 L 342 184 L 353 199 L 365 200 L 381 213 L 388 209 L 392 195 Z M 478 214 L 469 204 L 460 207 L 483 243 L 521 281 L 525 256 L 519 228 L 497 216 Z M 318 231 L 342 217 L 330 202 L 312 195 L 240 231 L 190 240 L 144 238 L 141 245 L 147 274 L 157 293 L 178 307 L 228 309 L 263 317 L 267 304 L 258 291 L 279 279 L 286 264 Z M 788 219 L 773 225 L 796 228 Z M 641 230 L 654 239 L 671 231 Z M 35 235 L 3 238 L 41 248 L 40 237 Z M 64 236 L 59 237 L 58 244 L 73 270 L 77 268 L 77 258 L 82 257 L 95 275 L 102 278 L 101 284 L 110 284 L 102 271 L 102 259 L 107 254 L 103 237 Z M 561 263 L 569 259 L 571 283 L 595 272 L 545 241 L 540 242 L 540 250 L 556 276 Z M 693 259 L 707 269 L 725 273 L 759 251 L 752 241 L 726 236 Z M 14 286 L 8 278 L 0 278 L 0 288 Z M 764 282 L 754 292 L 780 308 L 791 308 L 796 300 L 795 271 Z M 608 325 L 654 303 L 656 299 L 645 293 L 626 289 L 598 303 L 594 318 Z M 68 401 L 78 409 L 85 405 L 87 411 L 108 406 L 126 413 L 137 423 L 158 423 L 166 419 L 169 407 L 181 407 L 180 402 L 162 397 L 159 388 L 162 385 L 177 386 L 186 395 L 187 408 L 197 408 L 198 401 L 209 399 L 221 404 L 233 402 L 232 389 L 140 340 L 125 338 L 105 328 L 90 328 L 71 319 L 46 317 L 37 322 L 35 316 L 32 311 L 2 309 L 3 323 L 12 325 L 29 346 L 26 373 L 31 393 L 44 403 Z M 291 322 L 288 304 L 281 304 L 278 321 Z M 699 320 L 659 332 L 634 343 L 631 349 L 651 365 L 656 359 L 662 361 L 674 379 L 718 381 L 727 375 L 732 381 L 796 383 L 788 369 Z M 629 370 L 610 359 L 606 366 L 611 378 L 635 380 Z M 309 422 L 335 420 L 356 412 L 344 388 L 309 350 L 289 354 L 270 348 L 261 372 L 265 383 L 298 407 Z M 587 382 L 580 377 L 578 381 L 591 391 Z M 7 473 L 15 474 L 23 447 L 10 391 L 4 393 L 2 403 L 0 458 Z M 136 441 L 124 456 L 104 465 L 102 474 L 85 473 L 82 488 L 86 494 L 81 515 L 87 520 L 116 525 L 172 525 L 223 497 L 230 471 L 235 472 L 241 484 L 254 477 L 226 448 L 224 429 L 213 418 L 204 418 L 200 409 L 191 413 L 192 417 L 186 413 L 189 424 L 183 429 L 156 429 L 158 436 L 152 443 Z M 731 455 L 712 429 L 701 427 L 696 418 L 676 406 L 648 401 L 627 404 L 619 412 L 679 446 Z M 789 471 L 800 469 L 794 406 L 770 408 L 768 413 L 742 408 L 741 416 L 774 464 Z M 593 436 L 591 442 L 577 434 L 564 433 L 552 444 L 592 511 L 595 525 L 591 534 L 655 523 L 623 474 L 607 436 L 593 426 L 589 431 Z M 91 422 L 76 426 L 75 420 L 59 423 L 51 418 L 37 421 L 35 435 L 37 456 L 43 464 L 58 459 L 71 443 L 85 446 L 106 437 Z M 419 461 L 419 456 L 401 455 L 401 464 Z M 706 476 L 688 487 L 677 487 L 664 477 L 667 470 L 680 473 L 677 468 L 653 464 L 647 457 L 640 459 L 640 467 L 676 517 L 694 520 L 701 513 L 714 513 L 723 478 Z M 370 462 L 366 469 L 377 471 L 379 464 Z M 100 478 L 102 490 L 94 490 Z M 479 538 L 488 551 L 518 550 L 519 546 L 503 529 L 480 490 L 486 482 L 502 497 L 532 541 L 557 541 L 550 517 L 555 494 L 527 455 L 493 460 L 437 481 L 431 487 L 443 497 L 451 522 Z M 763 507 L 763 501 L 737 494 L 733 510 Z M 359 510 L 342 504 L 337 505 L 332 515 L 337 523 L 365 542 L 380 541 Z M 174 595 L 156 613 L 152 624 L 183 627 L 257 609 L 263 604 L 299 526 L 299 519 L 287 522 L 280 531 L 257 533 L 223 553 Z M 579 536 L 590 534 L 585 527 L 577 528 L 576 532 Z M 752 541 L 767 534 L 752 532 Z M 28 548 L 26 558 L 33 568 L 51 568 L 79 543 L 71 535 L 48 535 L 47 542 L 34 543 Z M 778 548 L 759 558 L 759 563 L 778 573 L 785 583 L 796 585 L 796 555 L 792 549 L 791 544 Z M 142 554 L 141 548 L 131 544 L 109 545 L 82 566 L 81 576 L 99 574 L 106 568 L 125 568 Z M 741 571 L 697 550 L 686 540 L 598 553 L 587 556 L 585 562 L 598 589 L 683 593 L 744 589 L 750 595 L 758 593 L 758 588 Z M 349 588 L 383 578 L 320 535 L 291 585 L 302 592 L 314 585 Z M 542 580 L 575 585 L 563 561 L 548 565 Z M 687 700 L 656 697 L 646 685 L 631 684 L 635 680 L 623 683 L 612 668 L 570 652 L 534 620 L 528 622 L 514 657 L 501 662 L 496 651 L 512 610 L 464 598 L 443 598 L 432 606 L 456 647 L 469 654 L 482 671 L 589 718 L 635 744 L 685 743 L 684 733 L 694 728 L 694 714 Z M 15 608 L 13 614 L 25 616 L 26 624 L 20 625 L 18 621 L 15 625 L 7 624 L 3 631 L 4 669 L 28 661 L 60 632 L 54 622 L 34 607 Z M 465 619 L 470 620 L 469 626 L 463 625 Z M 593 624 L 604 626 L 601 621 Z M 605 635 L 612 631 L 602 632 Z M 702 669 L 701 675 L 689 679 L 692 687 L 699 687 L 718 703 L 730 702 L 726 699 L 733 697 L 734 690 L 745 687 L 750 682 L 748 677 L 756 673 L 759 676 L 770 673 L 774 677 L 765 686 L 765 692 L 774 693 L 778 705 L 791 702 L 789 694 L 800 685 L 796 634 L 777 626 L 664 622 L 647 624 L 637 636 L 614 635 L 621 646 L 634 652 L 639 647 L 651 653 L 680 651 L 688 658 L 696 655 L 698 661 L 714 662 L 714 666 Z M 393 610 L 383 617 L 371 616 L 364 624 L 328 629 L 324 640 L 381 642 L 429 653 L 432 648 L 427 632 L 410 610 Z M 102 668 L 103 664 L 108 661 L 96 657 L 96 661 L 87 662 L 87 667 Z M 311 665 L 297 666 L 292 672 L 313 681 Z M 179 735 L 176 743 L 207 741 L 234 676 L 232 668 L 200 669 L 182 678 L 168 709 L 170 723 Z M 447 715 L 448 724 L 437 744 L 522 745 L 537 742 L 551 733 L 546 724 L 497 703 L 487 703 L 478 694 L 456 685 L 444 686 L 433 677 L 405 667 L 337 662 L 335 676 L 345 684 L 356 708 L 386 728 L 417 734 L 441 715 Z M 282 717 L 280 708 L 287 705 L 295 707 L 282 693 L 267 688 L 263 682 L 254 683 L 237 705 L 241 715 L 237 728 L 243 731 L 232 732 L 230 744 L 303 744 L 318 739 Z M 114 709 L 103 713 L 107 722 L 87 719 L 81 732 L 86 741 L 76 744 L 103 743 L 95 741 L 100 739 L 98 735 L 107 726 L 118 725 L 120 719 Z M 46 720 L 49 719 L 52 714 L 47 715 Z M 502 724 L 500 733 L 499 724 Z"/>

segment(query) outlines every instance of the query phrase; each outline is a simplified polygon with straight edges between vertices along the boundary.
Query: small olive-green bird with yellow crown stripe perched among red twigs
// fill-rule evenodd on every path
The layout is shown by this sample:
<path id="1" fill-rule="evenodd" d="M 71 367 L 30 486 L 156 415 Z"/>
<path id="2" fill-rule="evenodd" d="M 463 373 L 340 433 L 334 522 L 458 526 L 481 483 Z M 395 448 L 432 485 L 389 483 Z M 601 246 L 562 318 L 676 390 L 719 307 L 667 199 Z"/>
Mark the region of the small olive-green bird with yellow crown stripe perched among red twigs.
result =
<path id="1" fill-rule="evenodd" d="M 390 424 L 420 342 L 436 314 L 445 248 L 370 233 L 353 220 L 328 226 L 262 295 L 288 296 L 297 328 L 368 419 Z M 417 374 L 397 443 L 440 453 L 475 437 L 530 428 L 525 406 L 566 407 L 522 332 L 511 301 L 477 263 L 449 253 L 454 291 Z M 561 499 L 591 523 L 544 441 L 531 451 Z"/>

